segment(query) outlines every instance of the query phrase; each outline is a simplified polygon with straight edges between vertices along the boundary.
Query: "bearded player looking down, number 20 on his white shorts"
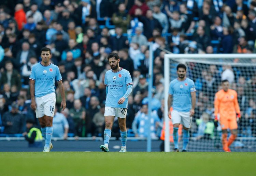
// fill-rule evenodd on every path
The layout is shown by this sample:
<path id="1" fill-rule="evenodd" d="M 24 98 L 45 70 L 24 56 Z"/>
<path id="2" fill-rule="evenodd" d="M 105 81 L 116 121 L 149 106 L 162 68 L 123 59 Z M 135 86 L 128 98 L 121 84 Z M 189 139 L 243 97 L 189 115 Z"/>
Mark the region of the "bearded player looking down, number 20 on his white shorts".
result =
<path id="1" fill-rule="evenodd" d="M 128 106 L 128 96 L 132 92 L 132 79 L 129 71 L 119 67 L 119 56 L 117 53 L 110 53 L 108 56 L 111 70 L 106 71 L 104 84 L 106 85 L 106 105 L 105 105 L 105 130 L 104 145 L 100 149 L 109 152 L 109 139 L 113 120 L 118 117 L 119 128 L 121 130 L 122 147 L 119 152 L 126 152 L 126 113 Z"/>

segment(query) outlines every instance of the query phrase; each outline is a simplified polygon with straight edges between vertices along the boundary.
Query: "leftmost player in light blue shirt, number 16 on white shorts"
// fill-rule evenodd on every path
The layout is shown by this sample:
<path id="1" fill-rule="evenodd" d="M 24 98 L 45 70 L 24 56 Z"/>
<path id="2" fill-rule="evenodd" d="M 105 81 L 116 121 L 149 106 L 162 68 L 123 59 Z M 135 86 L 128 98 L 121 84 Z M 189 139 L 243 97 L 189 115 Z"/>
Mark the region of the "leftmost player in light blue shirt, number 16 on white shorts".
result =
<path id="1" fill-rule="evenodd" d="M 52 57 L 51 49 L 42 48 L 42 61 L 32 67 L 30 79 L 30 95 L 31 108 L 39 120 L 43 137 L 45 139 L 45 152 L 49 152 L 53 145 L 51 138 L 53 134 L 53 116 L 56 102 L 55 95 L 55 81 L 58 82 L 58 87 L 61 94 L 61 105 L 63 110 L 66 108 L 66 100 L 64 87 L 62 84 L 62 77 L 58 66 L 52 64 L 50 59 Z"/>

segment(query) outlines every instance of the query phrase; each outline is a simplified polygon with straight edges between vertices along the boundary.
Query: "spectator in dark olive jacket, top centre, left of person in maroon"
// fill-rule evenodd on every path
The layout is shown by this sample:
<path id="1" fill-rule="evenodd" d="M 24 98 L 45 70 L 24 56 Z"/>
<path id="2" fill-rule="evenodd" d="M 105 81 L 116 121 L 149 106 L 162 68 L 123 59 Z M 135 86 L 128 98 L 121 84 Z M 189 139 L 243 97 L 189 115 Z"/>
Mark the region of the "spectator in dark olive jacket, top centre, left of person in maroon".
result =
<path id="1" fill-rule="evenodd" d="M 125 3 L 120 3 L 118 6 L 118 12 L 113 13 L 111 20 L 115 26 L 120 26 L 123 32 L 127 33 L 127 26 L 130 23 L 131 16 L 126 13 L 125 9 Z"/>

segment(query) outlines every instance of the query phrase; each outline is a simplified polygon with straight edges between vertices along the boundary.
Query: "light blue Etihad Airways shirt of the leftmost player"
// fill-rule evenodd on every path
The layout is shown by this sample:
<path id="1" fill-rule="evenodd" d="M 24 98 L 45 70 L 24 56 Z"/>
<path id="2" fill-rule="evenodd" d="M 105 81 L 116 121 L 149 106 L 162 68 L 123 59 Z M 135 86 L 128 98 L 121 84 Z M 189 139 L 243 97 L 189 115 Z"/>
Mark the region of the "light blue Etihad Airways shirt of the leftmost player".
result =
<path id="1" fill-rule="evenodd" d="M 40 63 L 34 65 L 31 70 L 29 79 L 35 81 L 35 97 L 55 92 L 55 81 L 61 81 L 59 67 L 50 63 L 44 66 Z"/>

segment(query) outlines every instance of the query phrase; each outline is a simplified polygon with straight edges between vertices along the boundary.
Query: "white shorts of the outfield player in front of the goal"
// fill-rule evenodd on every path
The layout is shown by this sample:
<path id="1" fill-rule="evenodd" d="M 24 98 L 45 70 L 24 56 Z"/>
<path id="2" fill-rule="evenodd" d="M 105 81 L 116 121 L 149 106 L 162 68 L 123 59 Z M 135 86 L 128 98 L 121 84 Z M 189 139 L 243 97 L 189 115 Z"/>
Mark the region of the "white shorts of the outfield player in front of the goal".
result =
<path id="1" fill-rule="evenodd" d="M 190 112 L 178 112 L 173 110 L 171 113 L 172 124 L 182 124 L 186 128 L 190 128 L 192 117 Z"/>

